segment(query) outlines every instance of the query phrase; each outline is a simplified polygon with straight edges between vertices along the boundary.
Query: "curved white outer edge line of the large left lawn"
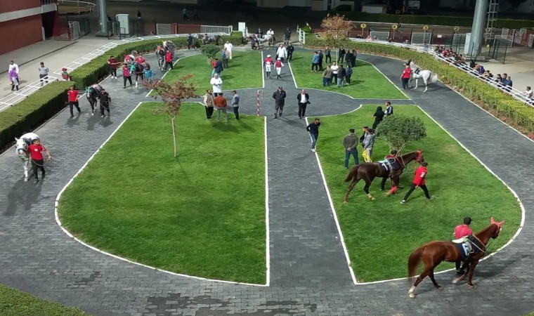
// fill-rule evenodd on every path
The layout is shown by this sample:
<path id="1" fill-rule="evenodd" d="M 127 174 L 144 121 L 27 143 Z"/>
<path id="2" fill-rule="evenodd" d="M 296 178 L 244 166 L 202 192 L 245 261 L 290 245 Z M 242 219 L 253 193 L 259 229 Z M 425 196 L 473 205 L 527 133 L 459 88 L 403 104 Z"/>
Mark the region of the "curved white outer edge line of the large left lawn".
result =
<path id="1" fill-rule="evenodd" d="M 93 160 L 93 158 L 96 156 L 96 154 L 98 154 L 98 152 L 100 152 L 100 150 L 105 146 L 105 144 L 107 144 L 108 141 L 110 141 L 110 139 L 115 135 L 115 133 L 117 133 L 117 131 L 119 131 L 119 129 L 122 127 L 122 125 L 129 119 L 129 117 L 131 117 L 131 114 L 133 114 L 133 112 L 136 112 L 138 107 L 140 107 L 143 103 L 145 103 L 145 102 L 138 103 L 138 105 L 136 105 L 136 107 L 134 107 L 133 110 L 131 110 L 131 112 L 121 122 L 121 124 L 119 124 L 119 126 L 117 126 L 117 129 L 115 129 L 115 131 L 113 131 L 111 133 L 110 137 L 108 137 L 108 139 L 106 139 L 104 141 L 104 143 L 102 145 L 100 145 L 100 147 L 98 147 L 98 149 L 91 155 L 91 157 L 89 157 L 89 159 L 87 159 L 85 164 L 77 171 L 77 173 L 74 174 L 74 176 L 72 176 L 72 178 L 70 178 L 69 182 L 67 182 L 67 184 L 60 190 L 60 192 L 58 193 L 58 196 L 56 197 L 56 201 L 54 202 L 54 216 L 56 218 L 56 223 L 58 224 L 59 228 L 61 228 L 61 230 L 63 230 L 63 232 L 65 232 L 65 234 L 68 237 L 74 239 L 74 241 L 79 242 L 79 244 L 82 244 L 83 246 L 86 246 L 89 249 L 97 251 L 100 254 L 105 254 L 106 256 L 110 256 L 112 258 L 119 259 L 121 261 L 126 261 L 127 263 L 132 263 L 134 265 L 140 265 L 141 267 L 144 267 L 144 268 L 149 268 L 150 270 L 164 272 L 164 273 L 167 273 L 169 275 L 175 275 L 175 276 L 178 276 L 178 277 L 187 277 L 187 278 L 190 278 L 190 279 L 200 279 L 202 281 L 207 281 L 207 282 L 221 282 L 221 283 L 228 283 L 228 284 L 251 285 L 251 286 L 254 286 L 254 287 L 267 287 L 268 284 L 253 284 L 253 283 L 244 283 L 244 282 L 232 282 L 232 281 L 226 281 L 226 280 L 221 280 L 221 279 L 207 279 L 205 277 L 195 277 L 193 275 L 183 275 L 181 273 L 176 273 L 176 272 L 171 272 L 171 271 L 167 271 L 167 270 L 158 269 L 158 268 L 152 267 L 150 265 L 145 265 L 143 263 L 138 263 L 138 262 L 135 262 L 135 261 L 131 261 L 129 259 L 123 258 L 121 256 L 117 256 L 115 254 L 110 254 L 110 253 L 108 253 L 106 251 L 103 251 L 103 250 L 100 250 L 100 249 L 96 248 L 95 246 L 91 246 L 90 244 L 86 244 L 85 242 L 82 242 L 82 240 L 78 239 L 77 237 L 74 237 L 66 228 L 63 227 L 63 225 L 61 224 L 61 220 L 59 219 L 59 216 L 58 216 L 58 205 L 59 205 L 59 200 L 61 198 L 61 195 L 63 195 L 63 192 L 65 192 L 67 187 L 72 183 L 72 181 L 74 181 L 74 178 L 76 178 L 80 173 L 82 173 L 82 171 L 84 171 L 85 167 L 89 164 L 89 162 L 91 162 L 91 160 Z"/>

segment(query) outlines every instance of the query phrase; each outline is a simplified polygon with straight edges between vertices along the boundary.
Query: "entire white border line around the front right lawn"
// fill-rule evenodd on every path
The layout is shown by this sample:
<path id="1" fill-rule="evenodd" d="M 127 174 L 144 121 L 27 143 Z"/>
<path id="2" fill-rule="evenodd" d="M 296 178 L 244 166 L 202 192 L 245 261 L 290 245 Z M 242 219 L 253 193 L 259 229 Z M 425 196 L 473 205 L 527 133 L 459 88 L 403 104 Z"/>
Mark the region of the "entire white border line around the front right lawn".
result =
<path id="1" fill-rule="evenodd" d="M 469 101 L 471 102 L 471 101 Z M 431 119 L 431 121 L 434 121 L 434 123 L 439 126 L 440 129 L 442 129 L 443 131 L 445 131 L 445 133 L 447 133 L 448 136 L 450 136 L 450 138 L 452 138 L 453 140 L 455 140 L 455 142 L 460 145 L 460 147 L 462 147 L 462 149 L 464 149 L 467 153 L 469 153 L 472 157 L 474 157 L 474 159 L 476 159 L 476 161 L 481 164 L 487 171 L 489 171 L 489 173 L 494 176 L 495 178 L 497 178 L 497 180 L 500 180 L 500 182 L 502 184 L 504 184 L 505 187 L 507 187 L 507 189 L 512 192 L 512 195 L 514 195 L 514 197 L 517 199 L 517 202 L 519 202 L 519 208 L 521 209 L 521 223 L 519 224 L 519 228 L 518 230 L 516 231 L 516 233 L 514 234 L 514 236 L 512 236 L 512 238 L 510 238 L 508 240 L 508 242 L 504 245 L 502 245 L 499 249 L 495 250 L 495 252 L 489 254 L 488 256 L 485 256 L 484 258 L 481 259 L 481 261 L 485 261 L 486 259 L 488 258 L 491 258 L 492 256 L 494 256 L 495 254 L 499 253 L 502 249 L 504 249 L 505 247 L 507 247 L 509 244 L 512 244 L 512 242 L 514 242 L 514 240 L 516 239 L 517 236 L 519 236 L 519 233 L 521 233 L 521 230 L 523 230 L 523 226 L 525 224 L 525 217 L 526 217 L 526 211 L 525 211 L 525 206 L 523 205 L 523 202 L 521 202 L 521 199 L 519 199 L 519 196 L 517 195 L 517 193 L 512 189 L 512 187 L 509 187 L 509 185 L 507 185 L 507 183 L 504 182 L 504 180 L 502 180 L 499 176 L 497 176 L 488 166 L 486 166 L 486 164 L 484 164 L 483 162 L 481 162 L 480 159 L 478 159 L 478 157 L 476 157 L 475 154 L 473 154 L 473 152 L 471 152 L 471 150 L 467 149 L 467 147 L 464 146 L 464 144 L 462 144 L 460 142 L 460 140 L 457 140 L 457 138 L 455 138 L 454 136 L 452 136 L 451 133 L 449 133 L 449 131 L 447 131 L 441 124 L 438 123 L 438 121 L 436 121 L 433 117 L 431 117 L 425 110 L 422 109 L 422 107 L 420 107 L 419 105 L 416 105 L 414 104 L 415 107 L 419 108 L 419 110 L 421 110 L 425 115 L 426 117 L 429 117 L 429 119 Z M 351 112 L 355 112 L 356 110 L 359 110 L 360 108 L 362 107 L 362 105 L 360 105 L 359 107 L 357 107 L 355 110 L 352 110 Z M 342 113 L 342 114 L 333 114 L 333 115 L 325 115 L 323 117 L 335 117 L 335 116 L 338 116 L 338 115 L 345 115 L 345 114 L 349 114 L 351 112 L 346 112 L 346 113 Z M 493 115 L 492 115 L 493 116 Z M 495 118 L 496 119 L 496 118 Z M 498 120 L 500 121 L 500 120 Z M 306 119 L 306 123 L 307 123 L 307 119 Z M 507 125 L 505 124 L 503 121 L 500 121 L 502 124 L 504 125 Z M 512 126 L 509 126 L 511 129 Z M 514 129 L 514 131 L 516 131 Z M 519 133 L 519 131 L 517 131 Z M 520 133 L 521 134 L 521 133 Z M 521 134 L 523 135 L 523 134 Z M 523 135 L 524 136 L 524 135 Z M 525 136 L 526 137 L 526 136 Z M 528 140 L 530 140 L 530 138 L 526 137 Z M 534 143 L 534 140 L 530 140 Z M 358 282 L 356 280 L 356 277 L 355 275 L 353 274 L 353 269 L 351 267 L 351 260 L 349 258 L 349 253 L 348 251 L 346 251 L 346 246 L 345 246 L 345 242 L 344 242 L 344 238 L 343 238 L 343 233 L 341 232 L 341 227 L 339 226 L 339 222 L 338 222 L 338 218 L 337 218 L 337 212 L 334 208 L 334 204 L 333 204 L 333 201 L 330 197 L 330 189 L 328 188 L 328 185 L 327 185 L 327 180 L 325 178 L 325 174 L 323 173 L 323 165 L 321 164 L 320 162 L 320 159 L 319 159 L 319 156 L 317 154 L 317 152 L 315 152 L 315 157 L 317 158 L 317 162 L 318 162 L 318 166 L 319 166 L 319 170 L 320 170 L 320 173 L 321 173 L 321 176 L 323 177 L 323 183 L 325 184 L 325 190 L 327 192 L 327 197 L 328 199 L 330 200 L 330 207 L 332 208 L 332 213 L 334 213 L 334 220 L 336 222 L 336 225 L 337 225 L 337 230 L 338 230 L 338 233 L 339 233 L 339 239 L 341 239 L 341 244 L 343 245 L 343 248 L 344 248 L 344 251 L 345 251 L 345 256 L 346 256 L 346 259 L 347 259 L 347 264 L 349 265 L 349 269 L 351 271 L 351 276 L 353 277 L 353 283 L 354 285 L 358 285 L 358 284 L 362 284 L 362 285 L 365 285 L 365 284 L 378 284 L 378 283 L 385 283 L 385 282 L 392 282 L 392 281 L 399 281 L 399 280 L 403 280 L 403 279 L 408 279 L 408 277 L 398 277 L 396 279 L 384 279 L 384 280 L 379 280 L 379 281 L 372 281 L 372 282 Z M 447 269 L 447 270 L 443 270 L 443 271 L 439 271 L 439 272 L 435 272 L 434 274 L 437 275 L 437 274 L 442 274 L 444 272 L 450 272 L 452 270 L 455 270 L 455 269 Z M 415 277 L 417 277 L 418 275 L 416 275 Z"/>

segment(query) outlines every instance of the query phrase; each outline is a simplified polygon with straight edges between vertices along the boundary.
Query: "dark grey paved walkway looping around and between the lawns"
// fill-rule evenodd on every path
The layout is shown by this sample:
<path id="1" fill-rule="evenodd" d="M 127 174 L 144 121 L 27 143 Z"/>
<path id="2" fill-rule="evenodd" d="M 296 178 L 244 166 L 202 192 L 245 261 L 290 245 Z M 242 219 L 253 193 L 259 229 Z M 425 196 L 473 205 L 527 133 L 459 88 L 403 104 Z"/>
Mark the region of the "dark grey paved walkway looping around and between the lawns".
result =
<path id="1" fill-rule="evenodd" d="M 398 84 L 401 61 L 359 56 Z M 79 117 L 70 119 L 63 111 L 37 130 L 56 158 L 44 181 L 25 183 L 15 154 L 0 156 L 0 168 L 8 175 L 0 184 L 0 283 L 94 315 L 520 315 L 534 310 L 530 216 L 512 244 L 478 265 L 476 290 L 446 284 L 450 277 L 442 275 L 437 277 L 443 291 L 425 281 L 415 300 L 408 298 L 405 280 L 354 285 L 315 155 L 308 150 L 305 121 L 296 115 L 299 90 L 285 71 L 281 80 L 266 80 L 263 88 L 263 109 L 268 109 L 262 110 L 268 117 L 268 287 L 180 277 L 120 261 L 82 246 L 56 225 L 58 192 L 145 100 L 142 88 L 124 90 L 122 82 L 109 79 L 104 85 L 115 100 L 110 119 L 91 117 L 84 101 Z M 270 96 L 280 85 L 288 99 L 283 118 L 275 120 Z M 244 114 L 255 113 L 254 91 L 241 91 Z M 360 103 L 384 101 L 309 93 L 310 115 L 339 114 Z M 517 192 L 527 214 L 532 211 L 530 140 L 442 84 L 428 93 L 408 91 L 408 96 L 411 101 L 403 103 L 420 105 Z"/>

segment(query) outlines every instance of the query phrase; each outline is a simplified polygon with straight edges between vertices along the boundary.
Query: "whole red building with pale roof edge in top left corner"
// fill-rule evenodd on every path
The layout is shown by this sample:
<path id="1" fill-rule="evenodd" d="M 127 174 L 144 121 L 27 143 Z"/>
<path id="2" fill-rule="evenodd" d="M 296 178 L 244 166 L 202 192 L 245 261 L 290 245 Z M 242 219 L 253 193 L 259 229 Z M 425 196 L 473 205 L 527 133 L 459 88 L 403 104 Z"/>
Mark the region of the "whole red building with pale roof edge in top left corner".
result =
<path id="1" fill-rule="evenodd" d="M 56 0 L 2 1 L 0 54 L 43 41 L 58 20 Z"/>

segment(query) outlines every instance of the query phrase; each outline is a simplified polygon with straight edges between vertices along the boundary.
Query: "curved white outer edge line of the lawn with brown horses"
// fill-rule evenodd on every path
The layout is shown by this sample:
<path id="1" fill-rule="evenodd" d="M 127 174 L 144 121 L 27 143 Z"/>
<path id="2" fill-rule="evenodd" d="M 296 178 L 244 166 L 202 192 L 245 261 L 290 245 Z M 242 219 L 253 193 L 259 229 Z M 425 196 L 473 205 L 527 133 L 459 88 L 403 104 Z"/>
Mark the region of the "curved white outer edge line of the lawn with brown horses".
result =
<path id="1" fill-rule="evenodd" d="M 523 203 L 521 202 L 521 199 L 519 199 L 519 196 L 512 189 L 512 187 L 509 187 L 509 185 L 507 185 L 507 183 L 505 183 L 504 180 L 502 180 L 499 176 L 497 176 L 488 166 L 486 166 L 486 164 L 484 164 L 480 159 L 478 159 L 478 157 L 476 157 L 476 155 L 473 154 L 473 152 L 471 152 L 471 150 L 467 149 L 467 147 L 465 147 L 464 144 L 460 143 L 460 140 L 457 140 L 457 138 L 452 136 L 452 134 L 449 133 L 449 131 L 447 131 L 441 124 L 439 124 L 438 121 L 436 121 L 433 117 L 431 117 L 428 113 L 426 113 L 426 111 L 423 110 L 422 107 L 420 107 L 419 105 L 415 105 L 415 106 L 419 107 L 419 110 L 421 110 L 427 117 L 429 117 L 429 119 L 434 121 L 434 123 L 437 124 L 440 127 L 440 129 L 443 129 L 443 131 L 445 131 L 445 133 L 447 133 L 448 136 L 450 136 L 450 138 L 455 140 L 455 142 L 458 143 L 458 145 L 460 145 L 460 147 L 462 147 L 466 152 L 471 154 L 471 156 L 474 157 L 474 159 L 476 159 L 476 161 L 479 164 L 481 164 L 484 168 L 486 168 L 487 171 L 489 171 L 489 173 L 491 173 L 495 178 L 500 180 L 500 182 L 502 182 L 502 184 L 504 184 L 504 186 L 507 187 L 510 192 L 512 192 L 512 195 L 514 195 L 514 197 L 516 197 L 517 202 L 519 202 L 519 207 L 521 208 L 521 223 L 519 224 L 518 230 L 516 231 L 515 235 L 512 236 L 512 238 L 510 238 L 509 241 L 506 244 L 502 245 L 499 249 L 495 250 L 493 253 L 491 253 L 488 256 L 485 256 L 484 258 L 481 259 L 481 261 L 485 261 L 486 259 L 489 259 L 489 258 L 493 257 L 495 254 L 497 254 L 499 251 L 501 251 L 502 249 L 507 247 L 509 244 L 512 244 L 512 242 L 514 242 L 516 237 L 519 236 L 519 233 L 521 232 L 521 230 L 523 230 L 523 225 L 525 224 L 525 215 L 526 215 L 525 206 L 523 206 Z M 530 138 L 528 138 L 528 139 L 530 139 Z M 434 272 L 434 274 L 437 275 L 437 274 L 442 274 L 442 273 L 450 272 L 450 271 L 455 271 L 455 269 L 448 269 L 448 270 L 443 270 L 443 271 L 440 271 L 440 272 Z M 384 282 L 390 282 L 390 281 L 398 281 L 398 280 L 403 280 L 403 279 L 408 279 L 408 277 L 400 277 L 400 278 L 397 278 L 397 279 L 384 279 L 384 280 L 375 281 L 375 282 L 363 282 L 363 283 L 360 283 L 360 284 L 377 284 L 377 283 L 384 283 Z"/>

